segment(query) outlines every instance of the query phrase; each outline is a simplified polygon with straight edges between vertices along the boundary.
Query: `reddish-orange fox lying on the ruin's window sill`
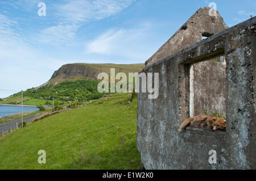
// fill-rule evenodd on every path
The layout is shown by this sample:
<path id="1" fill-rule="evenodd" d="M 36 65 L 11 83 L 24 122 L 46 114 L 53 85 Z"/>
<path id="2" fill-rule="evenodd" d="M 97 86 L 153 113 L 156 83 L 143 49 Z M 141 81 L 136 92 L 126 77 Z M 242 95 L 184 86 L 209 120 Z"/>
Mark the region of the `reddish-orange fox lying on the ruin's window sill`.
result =
<path id="1" fill-rule="evenodd" d="M 199 115 L 196 117 L 189 117 L 182 121 L 179 127 L 179 132 L 183 131 L 185 127 L 192 126 L 196 128 L 205 128 L 213 130 L 222 130 L 226 128 L 226 120 L 223 117 L 209 117 L 206 115 Z"/>

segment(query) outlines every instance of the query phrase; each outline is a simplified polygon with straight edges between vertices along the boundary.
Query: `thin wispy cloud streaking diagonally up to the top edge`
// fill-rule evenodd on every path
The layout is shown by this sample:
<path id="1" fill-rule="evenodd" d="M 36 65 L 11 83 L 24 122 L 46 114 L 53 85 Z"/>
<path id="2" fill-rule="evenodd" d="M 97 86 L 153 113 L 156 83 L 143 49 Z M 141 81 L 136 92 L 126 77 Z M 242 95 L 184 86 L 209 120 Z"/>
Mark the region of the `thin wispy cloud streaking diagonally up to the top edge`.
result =
<path id="1" fill-rule="evenodd" d="M 56 16 L 60 23 L 42 30 L 39 37 L 43 43 L 53 45 L 70 41 L 84 23 L 118 14 L 132 2 L 132 0 L 76 0 L 64 5 L 55 5 Z"/>

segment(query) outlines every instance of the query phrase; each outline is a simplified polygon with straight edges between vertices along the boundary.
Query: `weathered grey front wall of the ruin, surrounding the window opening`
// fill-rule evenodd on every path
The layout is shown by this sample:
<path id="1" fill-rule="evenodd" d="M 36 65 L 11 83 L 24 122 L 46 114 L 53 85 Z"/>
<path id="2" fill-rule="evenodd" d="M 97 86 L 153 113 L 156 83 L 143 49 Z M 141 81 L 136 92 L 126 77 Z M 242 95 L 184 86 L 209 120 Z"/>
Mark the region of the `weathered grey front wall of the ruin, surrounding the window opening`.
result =
<path id="1" fill-rule="evenodd" d="M 146 169 L 256 169 L 255 25 L 249 19 L 143 69 L 159 73 L 158 99 L 138 94 L 137 146 Z M 219 56 L 226 57 L 226 132 L 178 132 L 189 117 L 189 66 Z"/>

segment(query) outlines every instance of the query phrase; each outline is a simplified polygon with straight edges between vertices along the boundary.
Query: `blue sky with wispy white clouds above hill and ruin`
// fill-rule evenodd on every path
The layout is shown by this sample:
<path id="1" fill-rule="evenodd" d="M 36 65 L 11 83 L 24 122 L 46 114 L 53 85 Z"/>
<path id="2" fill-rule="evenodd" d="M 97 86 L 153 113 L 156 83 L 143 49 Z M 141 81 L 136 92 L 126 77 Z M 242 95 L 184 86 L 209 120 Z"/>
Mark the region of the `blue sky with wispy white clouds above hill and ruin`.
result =
<path id="1" fill-rule="evenodd" d="M 0 0 L 0 98 L 42 85 L 68 63 L 144 63 L 210 2 L 229 27 L 256 14 L 255 0 Z"/>

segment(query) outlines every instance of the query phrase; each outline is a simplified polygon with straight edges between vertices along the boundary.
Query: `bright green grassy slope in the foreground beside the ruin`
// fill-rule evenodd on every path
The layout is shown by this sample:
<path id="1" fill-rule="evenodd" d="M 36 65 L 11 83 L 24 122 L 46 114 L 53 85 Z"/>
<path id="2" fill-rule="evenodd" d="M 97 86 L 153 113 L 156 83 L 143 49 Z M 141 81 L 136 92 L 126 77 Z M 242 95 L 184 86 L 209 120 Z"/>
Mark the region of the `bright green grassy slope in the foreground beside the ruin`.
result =
<path id="1" fill-rule="evenodd" d="M 137 100 L 126 105 L 129 98 L 96 100 L 20 129 L 0 141 L 0 169 L 141 169 Z M 46 164 L 38 163 L 39 150 Z"/>

